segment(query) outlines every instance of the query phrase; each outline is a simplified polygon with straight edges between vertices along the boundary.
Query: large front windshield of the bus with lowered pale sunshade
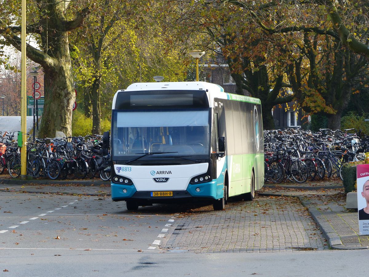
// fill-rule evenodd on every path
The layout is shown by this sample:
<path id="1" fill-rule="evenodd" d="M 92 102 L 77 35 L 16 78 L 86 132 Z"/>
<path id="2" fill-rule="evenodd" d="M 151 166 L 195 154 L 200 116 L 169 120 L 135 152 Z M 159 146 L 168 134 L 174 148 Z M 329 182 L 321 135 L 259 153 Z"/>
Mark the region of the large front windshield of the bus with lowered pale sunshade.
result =
<path id="1" fill-rule="evenodd" d="M 210 154 L 209 109 L 113 111 L 112 154 Z"/>

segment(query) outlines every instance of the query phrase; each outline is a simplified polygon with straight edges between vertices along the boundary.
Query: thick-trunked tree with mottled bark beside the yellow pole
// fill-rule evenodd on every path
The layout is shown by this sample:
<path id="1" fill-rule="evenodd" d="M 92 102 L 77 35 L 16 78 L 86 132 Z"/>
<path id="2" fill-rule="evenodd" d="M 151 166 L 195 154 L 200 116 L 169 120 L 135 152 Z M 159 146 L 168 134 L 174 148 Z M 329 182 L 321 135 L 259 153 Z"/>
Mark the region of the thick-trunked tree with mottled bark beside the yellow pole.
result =
<path id="1" fill-rule="evenodd" d="M 28 14 L 32 13 L 34 16 L 29 17 L 27 33 L 37 38 L 40 49 L 27 44 L 26 54 L 32 61 L 40 64 L 45 73 L 45 104 L 40 137 L 54 137 L 55 131 L 71 135 L 75 92 L 68 32 L 80 27 L 90 10 L 83 8 L 72 20 L 68 20 L 68 4 L 69 1 L 39 0 L 29 6 Z M 7 13 L 0 18 L 0 29 L 3 42 L 21 51 L 21 39 L 17 36 L 21 27 L 12 25 L 19 24 L 18 7 L 15 8 L 14 3 L 8 1 L 1 3 L 1 10 Z"/>

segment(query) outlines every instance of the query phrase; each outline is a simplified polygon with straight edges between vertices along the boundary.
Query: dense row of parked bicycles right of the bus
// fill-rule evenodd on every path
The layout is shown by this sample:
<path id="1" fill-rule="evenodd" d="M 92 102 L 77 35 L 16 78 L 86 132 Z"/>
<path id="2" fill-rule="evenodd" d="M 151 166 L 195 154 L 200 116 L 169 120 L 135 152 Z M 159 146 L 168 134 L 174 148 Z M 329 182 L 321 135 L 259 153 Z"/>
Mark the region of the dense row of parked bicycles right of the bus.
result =
<path id="1" fill-rule="evenodd" d="M 342 163 L 365 159 L 369 137 L 355 129 L 318 132 L 301 129 L 264 131 L 265 179 L 303 183 L 342 178 Z"/>

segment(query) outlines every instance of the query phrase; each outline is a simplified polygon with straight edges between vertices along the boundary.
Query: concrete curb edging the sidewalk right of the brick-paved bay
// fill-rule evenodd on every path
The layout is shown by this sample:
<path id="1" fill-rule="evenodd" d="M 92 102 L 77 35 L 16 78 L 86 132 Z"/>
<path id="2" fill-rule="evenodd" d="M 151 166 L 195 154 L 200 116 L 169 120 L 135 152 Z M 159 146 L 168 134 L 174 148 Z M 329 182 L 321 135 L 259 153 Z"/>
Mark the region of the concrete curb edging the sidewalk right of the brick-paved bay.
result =
<path id="1" fill-rule="evenodd" d="M 339 249 L 339 250 L 355 250 L 355 249 L 368 249 L 367 247 L 358 247 L 358 246 L 345 246 L 342 244 L 341 238 L 337 234 L 337 232 L 332 228 L 330 223 L 328 223 L 324 215 L 311 204 L 311 202 L 308 199 L 305 199 L 305 196 L 303 195 L 286 195 L 280 194 L 280 193 L 268 193 L 268 192 L 262 192 L 259 193 L 259 195 L 265 195 L 265 196 L 292 196 L 297 197 L 300 199 L 301 204 L 306 207 L 310 213 L 310 215 L 313 217 L 314 221 L 319 226 L 319 229 L 323 233 L 323 236 L 325 239 L 327 239 L 329 246 L 332 249 Z"/>

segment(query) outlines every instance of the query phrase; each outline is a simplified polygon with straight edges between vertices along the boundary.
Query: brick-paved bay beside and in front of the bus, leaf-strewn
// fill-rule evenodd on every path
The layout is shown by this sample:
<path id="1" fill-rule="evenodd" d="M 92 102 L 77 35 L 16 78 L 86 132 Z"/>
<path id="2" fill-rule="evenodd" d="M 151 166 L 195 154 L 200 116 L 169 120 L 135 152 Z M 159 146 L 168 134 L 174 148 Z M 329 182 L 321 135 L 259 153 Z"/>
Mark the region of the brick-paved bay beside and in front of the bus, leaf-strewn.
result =
<path id="1" fill-rule="evenodd" d="M 307 209 L 292 197 L 259 196 L 230 203 L 225 211 L 202 207 L 177 222 L 162 248 L 201 253 L 328 247 Z"/>

